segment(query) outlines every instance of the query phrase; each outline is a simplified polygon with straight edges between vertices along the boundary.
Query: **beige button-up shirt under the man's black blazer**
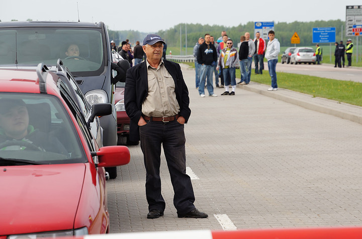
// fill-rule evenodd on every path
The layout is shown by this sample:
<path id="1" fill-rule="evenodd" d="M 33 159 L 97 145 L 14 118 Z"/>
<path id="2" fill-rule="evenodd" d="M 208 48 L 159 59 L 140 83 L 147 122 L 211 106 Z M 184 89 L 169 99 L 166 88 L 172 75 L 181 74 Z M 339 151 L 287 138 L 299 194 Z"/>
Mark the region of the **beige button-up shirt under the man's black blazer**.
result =
<path id="1" fill-rule="evenodd" d="M 142 103 L 142 113 L 148 117 L 174 116 L 179 113 L 175 84 L 161 59 L 157 69 L 146 61 L 148 95 Z"/>

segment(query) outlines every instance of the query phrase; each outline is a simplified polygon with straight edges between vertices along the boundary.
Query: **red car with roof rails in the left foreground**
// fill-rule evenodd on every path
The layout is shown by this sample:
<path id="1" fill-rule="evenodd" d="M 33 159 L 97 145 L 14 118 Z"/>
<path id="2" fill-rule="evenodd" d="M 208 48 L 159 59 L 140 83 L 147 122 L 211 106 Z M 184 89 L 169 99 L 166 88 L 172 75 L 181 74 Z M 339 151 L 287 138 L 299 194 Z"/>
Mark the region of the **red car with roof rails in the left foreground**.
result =
<path id="1" fill-rule="evenodd" d="M 89 125 L 112 105 L 94 104 L 84 118 L 60 68 L 0 69 L 0 238 L 109 232 L 104 167 L 130 153 L 99 147 Z"/>

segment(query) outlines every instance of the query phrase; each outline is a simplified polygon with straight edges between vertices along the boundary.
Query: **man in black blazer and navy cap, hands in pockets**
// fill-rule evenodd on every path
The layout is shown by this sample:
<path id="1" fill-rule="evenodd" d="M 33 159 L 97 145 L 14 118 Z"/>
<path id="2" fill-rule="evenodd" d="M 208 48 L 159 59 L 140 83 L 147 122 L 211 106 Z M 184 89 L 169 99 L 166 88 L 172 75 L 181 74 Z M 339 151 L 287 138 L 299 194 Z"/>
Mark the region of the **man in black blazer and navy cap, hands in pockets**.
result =
<path id="1" fill-rule="evenodd" d="M 189 91 L 180 66 L 162 60 L 165 42 L 155 34 L 143 40 L 146 61 L 127 71 L 125 107 L 130 117 L 130 140 L 141 141 L 146 168 L 147 218 L 163 215 L 159 175 L 161 145 L 174 190 L 178 217 L 206 218 L 196 209 L 191 179 L 186 174 L 184 124 L 188 122 Z"/>

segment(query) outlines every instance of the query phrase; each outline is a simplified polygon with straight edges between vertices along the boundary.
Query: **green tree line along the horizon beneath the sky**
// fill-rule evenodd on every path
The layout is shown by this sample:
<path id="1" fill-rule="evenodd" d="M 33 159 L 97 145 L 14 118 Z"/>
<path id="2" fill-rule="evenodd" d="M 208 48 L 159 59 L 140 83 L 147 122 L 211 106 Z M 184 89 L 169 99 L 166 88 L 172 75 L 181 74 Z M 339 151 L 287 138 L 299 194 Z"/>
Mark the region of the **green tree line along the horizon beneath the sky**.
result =
<path id="1" fill-rule="evenodd" d="M 345 22 L 341 20 L 314 21 L 314 22 L 295 21 L 293 23 L 279 22 L 274 24 L 274 31 L 276 32 L 276 38 L 278 38 L 279 42 L 281 43 L 281 46 L 283 47 L 294 46 L 294 44 L 291 44 L 291 38 L 295 32 L 298 33 L 298 36 L 301 40 L 298 46 L 314 45 L 312 41 L 313 28 L 335 28 L 336 41 L 339 42 L 340 40 L 343 40 L 343 42 L 346 42 L 347 37 L 345 37 Z M 341 35 L 342 28 L 343 28 L 343 38 Z M 254 22 L 240 24 L 236 27 L 180 23 L 168 30 L 160 30 L 156 34 L 158 34 L 165 40 L 167 46 L 180 47 L 180 41 L 181 41 L 181 46 L 184 48 L 186 47 L 186 31 L 187 31 L 188 47 L 195 46 L 199 38 L 204 37 L 206 33 L 211 34 L 212 36 L 214 36 L 215 40 L 217 40 L 221 36 L 222 31 L 226 31 L 228 37 L 231 38 L 234 42 L 238 43 L 240 41 L 240 36 L 244 35 L 245 32 L 249 32 L 251 36 L 254 35 Z M 132 31 L 132 30 L 130 31 L 109 30 L 110 39 L 114 40 L 116 43 L 119 42 L 119 44 L 121 44 L 121 42 L 126 39 L 129 39 L 131 43 L 140 41 L 142 44 L 142 40 L 147 34 L 148 33 L 140 33 L 138 31 Z M 324 45 L 329 45 L 329 43 Z"/>

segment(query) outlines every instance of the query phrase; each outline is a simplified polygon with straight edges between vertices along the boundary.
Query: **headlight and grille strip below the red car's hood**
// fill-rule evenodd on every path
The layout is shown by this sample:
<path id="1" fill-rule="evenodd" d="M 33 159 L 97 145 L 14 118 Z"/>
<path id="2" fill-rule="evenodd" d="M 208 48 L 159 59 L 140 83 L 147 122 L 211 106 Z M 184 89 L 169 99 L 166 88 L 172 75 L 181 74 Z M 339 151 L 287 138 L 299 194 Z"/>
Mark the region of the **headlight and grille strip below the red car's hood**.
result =
<path id="1" fill-rule="evenodd" d="M 47 231 L 47 232 L 39 232 L 39 233 L 30 233 L 30 234 L 19 234 L 19 235 L 9 235 L 8 239 L 17 239 L 17 238 L 53 238 L 53 237 L 65 237 L 65 236 L 80 236 L 87 235 L 88 229 L 86 227 L 82 227 L 74 230 L 61 230 L 61 231 Z"/>

